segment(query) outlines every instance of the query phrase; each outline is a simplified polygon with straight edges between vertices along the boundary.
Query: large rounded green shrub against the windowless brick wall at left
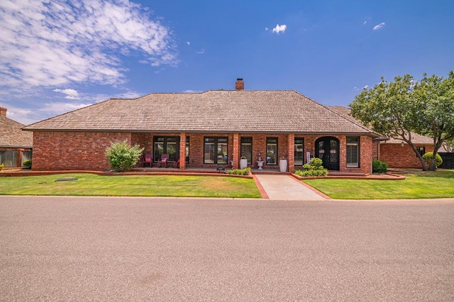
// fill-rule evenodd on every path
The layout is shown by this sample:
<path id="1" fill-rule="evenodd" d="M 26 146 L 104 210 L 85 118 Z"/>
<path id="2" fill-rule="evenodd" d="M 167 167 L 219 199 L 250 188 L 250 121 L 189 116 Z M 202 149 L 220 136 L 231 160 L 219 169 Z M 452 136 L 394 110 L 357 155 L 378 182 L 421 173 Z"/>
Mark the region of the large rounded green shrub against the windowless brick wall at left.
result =
<path id="1" fill-rule="evenodd" d="M 139 145 L 131 146 L 126 141 L 112 142 L 106 149 L 106 157 L 116 172 L 124 172 L 137 164 L 142 152 L 143 148 Z"/>

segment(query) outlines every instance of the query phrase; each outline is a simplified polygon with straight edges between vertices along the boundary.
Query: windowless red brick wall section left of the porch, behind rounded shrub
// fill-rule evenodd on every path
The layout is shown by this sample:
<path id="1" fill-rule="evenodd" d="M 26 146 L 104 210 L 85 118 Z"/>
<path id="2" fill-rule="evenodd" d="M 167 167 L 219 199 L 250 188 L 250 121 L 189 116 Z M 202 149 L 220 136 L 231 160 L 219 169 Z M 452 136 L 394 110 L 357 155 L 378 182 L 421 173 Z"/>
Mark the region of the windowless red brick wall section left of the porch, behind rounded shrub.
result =
<path id="1" fill-rule="evenodd" d="M 104 171 L 106 148 L 123 140 L 131 133 L 34 132 L 32 169 Z"/>

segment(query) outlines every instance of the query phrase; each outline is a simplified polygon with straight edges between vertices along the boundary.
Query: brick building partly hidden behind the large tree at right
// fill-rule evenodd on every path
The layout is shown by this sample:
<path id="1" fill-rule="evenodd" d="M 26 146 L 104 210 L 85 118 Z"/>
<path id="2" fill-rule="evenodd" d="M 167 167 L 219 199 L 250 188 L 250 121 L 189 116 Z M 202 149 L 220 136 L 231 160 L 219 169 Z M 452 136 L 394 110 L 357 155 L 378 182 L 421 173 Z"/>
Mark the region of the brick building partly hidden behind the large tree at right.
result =
<path id="1" fill-rule="evenodd" d="M 350 116 L 350 109 L 343 106 L 329 107 L 343 116 Z M 356 120 L 355 120 L 356 121 Z M 360 121 L 357 121 L 360 123 Z M 411 133 L 411 141 L 416 149 L 423 155 L 426 152 L 433 152 L 433 139 L 427 136 Z M 417 168 L 421 169 L 421 161 L 414 153 L 414 150 L 406 142 L 397 138 L 374 138 L 373 157 L 374 160 L 387 162 L 390 168 Z"/>

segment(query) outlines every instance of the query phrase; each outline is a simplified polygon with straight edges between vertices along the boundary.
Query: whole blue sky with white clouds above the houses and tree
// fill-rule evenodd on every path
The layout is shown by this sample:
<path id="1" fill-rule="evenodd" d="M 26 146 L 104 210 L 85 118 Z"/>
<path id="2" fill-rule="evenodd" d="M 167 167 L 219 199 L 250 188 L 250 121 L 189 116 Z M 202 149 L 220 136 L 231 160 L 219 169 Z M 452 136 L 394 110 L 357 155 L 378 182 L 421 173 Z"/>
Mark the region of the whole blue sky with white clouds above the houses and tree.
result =
<path id="1" fill-rule="evenodd" d="M 453 16 L 451 0 L 2 0 L 0 106 L 30 124 L 112 97 L 234 89 L 238 77 L 348 106 L 382 76 L 445 77 Z"/>

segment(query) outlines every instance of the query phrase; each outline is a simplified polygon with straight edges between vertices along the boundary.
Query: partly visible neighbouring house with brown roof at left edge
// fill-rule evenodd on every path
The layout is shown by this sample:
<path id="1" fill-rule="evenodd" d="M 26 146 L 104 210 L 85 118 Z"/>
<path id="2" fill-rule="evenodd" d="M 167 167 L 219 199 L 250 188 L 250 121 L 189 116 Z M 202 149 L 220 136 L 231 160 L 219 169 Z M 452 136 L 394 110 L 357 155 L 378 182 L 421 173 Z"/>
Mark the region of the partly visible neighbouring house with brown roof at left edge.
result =
<path id="1" fill-rule="evenodd" d="M 21 167 L 31 160 L 32 133 L 21 130 L 25 125 L 6 117 L 6 108 L 0 107 L 0 164 Z"/>

